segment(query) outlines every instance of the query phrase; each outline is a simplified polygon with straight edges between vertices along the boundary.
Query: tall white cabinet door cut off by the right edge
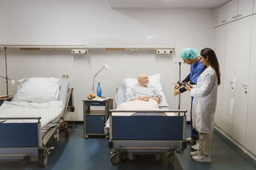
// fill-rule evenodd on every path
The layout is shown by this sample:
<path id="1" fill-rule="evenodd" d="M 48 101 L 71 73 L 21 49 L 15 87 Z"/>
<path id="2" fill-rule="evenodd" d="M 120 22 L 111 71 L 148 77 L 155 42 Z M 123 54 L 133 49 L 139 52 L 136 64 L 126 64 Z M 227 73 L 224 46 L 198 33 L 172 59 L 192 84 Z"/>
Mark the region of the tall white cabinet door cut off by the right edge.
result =
<path id="1" fill-rule="evenodd" d="M 250 79 L 248 89 L 248 113 L 246 128 L 246 148 L 256 155 L 256 15 L 253 15 L 252 22 L 252 45 L 250 57 Z M 254 47 L 254 48 L 253 48 Z"/>

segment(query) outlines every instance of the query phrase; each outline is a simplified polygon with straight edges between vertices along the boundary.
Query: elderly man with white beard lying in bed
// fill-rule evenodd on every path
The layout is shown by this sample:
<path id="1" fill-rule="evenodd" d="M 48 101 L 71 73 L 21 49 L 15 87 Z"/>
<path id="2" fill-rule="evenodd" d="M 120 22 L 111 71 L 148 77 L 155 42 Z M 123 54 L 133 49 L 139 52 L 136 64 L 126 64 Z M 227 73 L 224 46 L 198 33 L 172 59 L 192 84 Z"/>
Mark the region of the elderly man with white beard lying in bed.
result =
<path id="1" fill-rule="evenodd" d="M 157 103 L 162 100 L 161 94 L 157 91 L 155 87 L 148 86 L 148 76 L 147 74 L 139 74 L 137 85 L 134 89 L 131 89 L 129 94 L 127 94 L 128 101 L 141 100 L 148 101 L 148 99 L 154 99 Z"/>

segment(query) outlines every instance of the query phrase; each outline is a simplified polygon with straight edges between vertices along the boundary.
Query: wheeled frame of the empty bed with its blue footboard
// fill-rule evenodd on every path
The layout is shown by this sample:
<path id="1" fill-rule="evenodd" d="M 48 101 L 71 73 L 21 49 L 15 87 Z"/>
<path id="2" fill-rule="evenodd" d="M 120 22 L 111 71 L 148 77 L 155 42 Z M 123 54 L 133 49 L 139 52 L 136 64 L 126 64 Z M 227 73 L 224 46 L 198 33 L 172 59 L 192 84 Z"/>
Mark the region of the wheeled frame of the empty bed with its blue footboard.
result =
<path id="1" fill-rule="evenodd" d="M 35 118 L 0 118 L 0 160 L 23 159 L 29 156 L 31 161 L 42 157 L 42 166 L 47 164 L 47 155 L 53 147 L 47 148 L 46 144 L 52 136 L 58 138 L 59 129 L 62 127 L 67 113 L 74 111 L 73 88 L 68 89 L 65 100 L 65 109 L 58 123 L 51 127 L 44 135 L 41 132 L 40 117 Z M 4 123 L 10 119 L 37 119 L 36 123 Z M 65 132 L 68 134 L 67 129 Z M 67 135 L 66 134 L 66 135 Z"/>

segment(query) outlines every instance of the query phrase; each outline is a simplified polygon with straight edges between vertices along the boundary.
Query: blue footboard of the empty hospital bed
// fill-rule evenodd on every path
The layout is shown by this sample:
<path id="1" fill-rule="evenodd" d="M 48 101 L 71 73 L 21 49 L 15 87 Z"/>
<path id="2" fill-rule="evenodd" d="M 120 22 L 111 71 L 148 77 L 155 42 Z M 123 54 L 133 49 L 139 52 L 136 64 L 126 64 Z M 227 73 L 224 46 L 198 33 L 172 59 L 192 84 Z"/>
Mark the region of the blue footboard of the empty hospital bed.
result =
<path id="1" fill-rule="evenodd" d="M 22 159 L 24 156 L 38 155 L 42 147 L 40 118 L 0 118 L 38 119 L 35 123 L 2 123 L 0 124 L 0 159 Z"/>

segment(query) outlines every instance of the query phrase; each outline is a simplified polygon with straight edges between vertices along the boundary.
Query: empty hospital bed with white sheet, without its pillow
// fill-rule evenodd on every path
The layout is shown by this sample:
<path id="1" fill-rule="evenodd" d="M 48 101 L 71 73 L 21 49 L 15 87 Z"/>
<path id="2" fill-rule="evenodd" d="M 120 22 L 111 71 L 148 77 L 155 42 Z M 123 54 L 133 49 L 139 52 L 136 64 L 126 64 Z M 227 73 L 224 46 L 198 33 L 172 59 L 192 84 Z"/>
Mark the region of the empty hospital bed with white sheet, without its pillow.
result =
<path id="1" fill-rule="evenodd" d="M 64 119 L 70 111 L 74 111 L 73 88 L 69 88 L 67 80 L 60 81 L 56 103 L 58 104 L 54 104 L 53 101 L 36 106 L 33 103 L 12 101 L 4 103 L 5 105 L 1 106 L 3 108 L 0 107 L 0 160 L 19 160 L 29 156 L 33 162 L 41 157 L 42 166 L 47 164 L 47 155 L 53 148 L 47 148 L 47 142 L 52 137 L 59 139 L 61 128 L 68 136 L 67 123 Z M 24 114 L 26 111 L 28 115 Z M 51 114 L 47 115 L 44 111 Z M 13 114 L 10 116 L 6 113 Z M 35 116 L 31 116 L 33 113 Z"/>

